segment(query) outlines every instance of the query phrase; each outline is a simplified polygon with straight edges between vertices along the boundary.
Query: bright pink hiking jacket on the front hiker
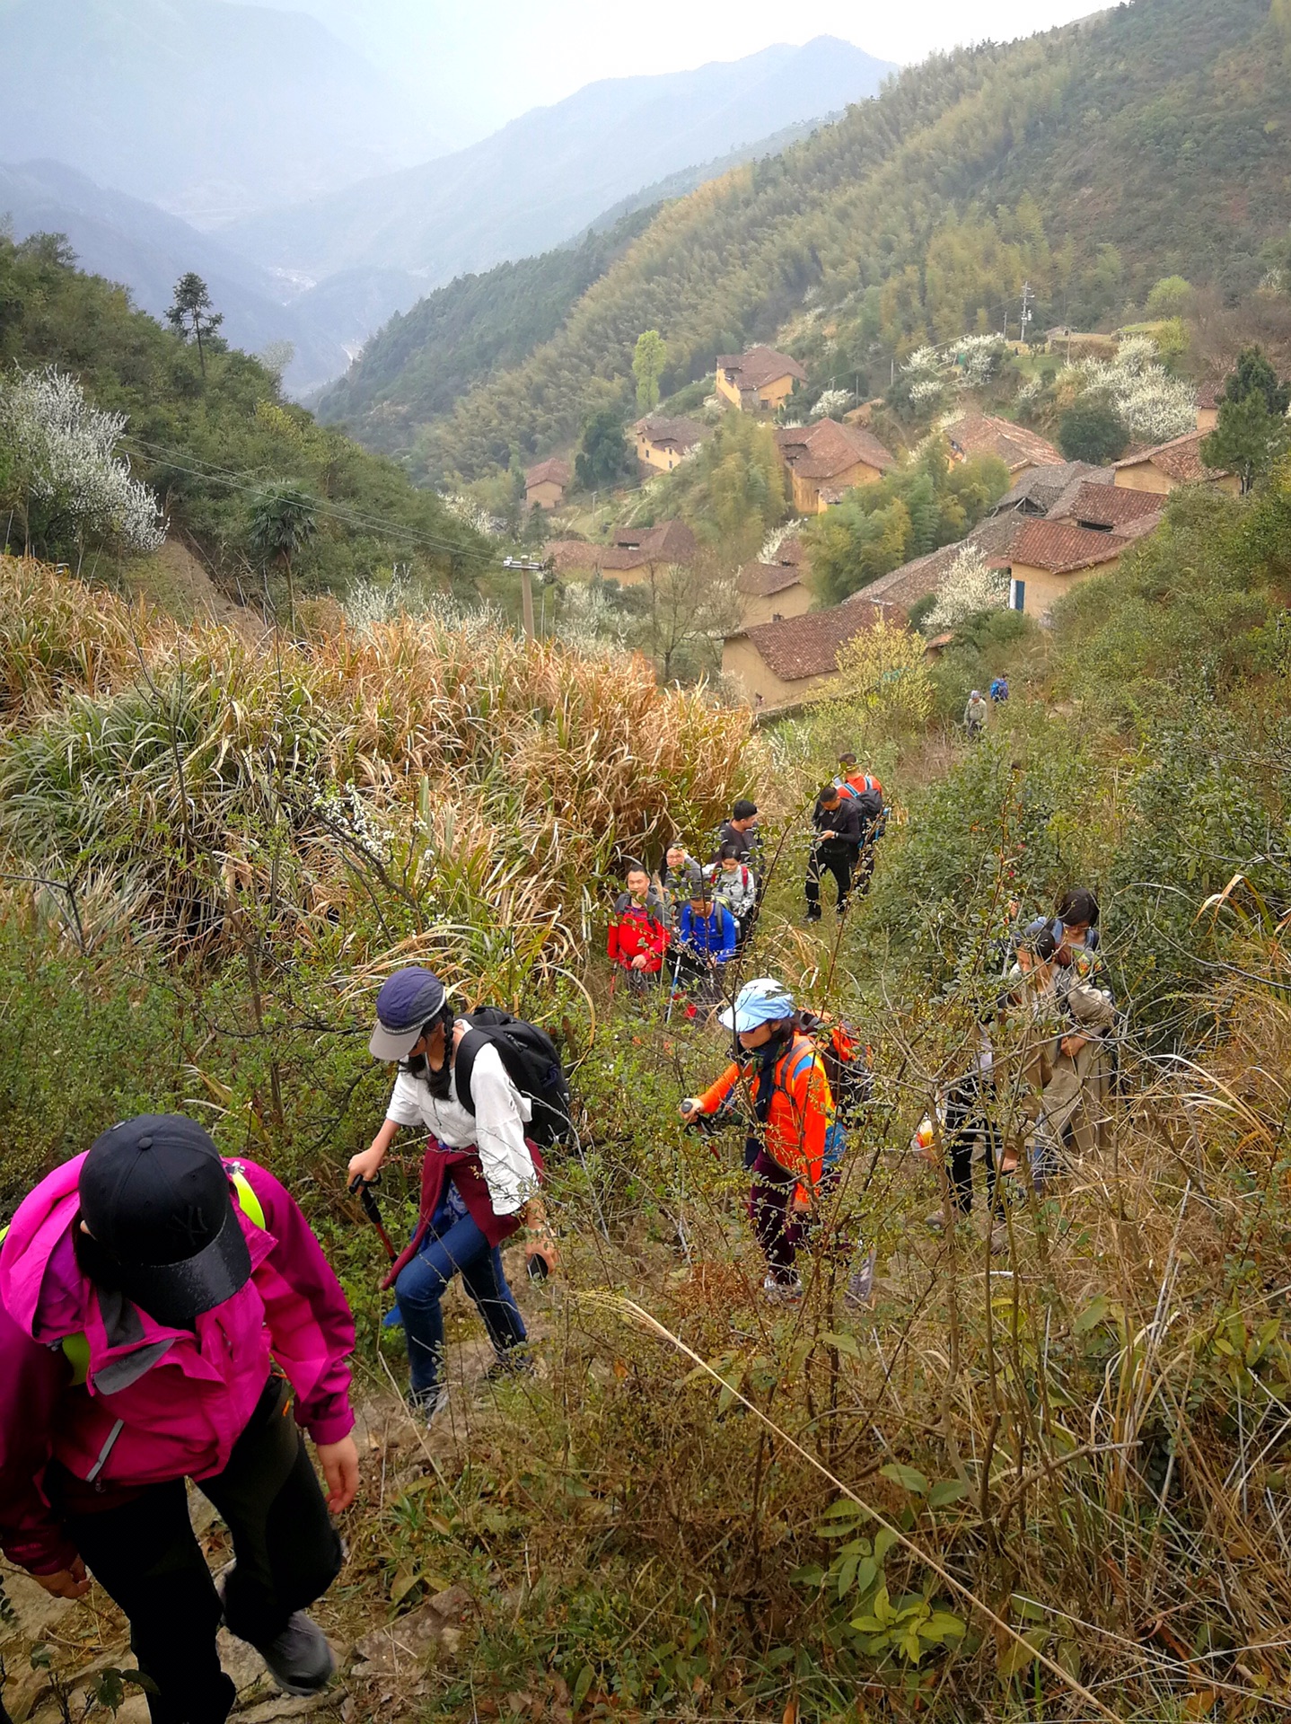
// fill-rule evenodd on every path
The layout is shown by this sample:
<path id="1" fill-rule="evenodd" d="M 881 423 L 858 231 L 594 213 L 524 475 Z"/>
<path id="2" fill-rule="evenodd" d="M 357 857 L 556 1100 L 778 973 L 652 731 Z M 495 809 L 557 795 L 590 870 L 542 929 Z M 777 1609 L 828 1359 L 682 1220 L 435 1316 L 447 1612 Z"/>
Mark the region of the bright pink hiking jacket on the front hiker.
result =
<path id="1" fill-rule="evenodd" d="M 164 1479 L 221 1472 L 269 1379 L 291 1383 L 296 1421 L 315 1443 L 353 1427 L 353 1319 L 309 1222 L 284 1188 L 240 1162 L 264 1209 L 234 1207 L 252 1279 L 196 1319 L 196 1334 L 153 1322 L 98 1293 L 72 1248 L 78 1155 L 21 1203 L 0 1246 L 0 1548 L 33 1574 L 76 1555 L 41 1491 L 57 1459 L 103 1507 Z M 72 1384 L 65 1336 L 84 1334 L 90 1372 Z"/>

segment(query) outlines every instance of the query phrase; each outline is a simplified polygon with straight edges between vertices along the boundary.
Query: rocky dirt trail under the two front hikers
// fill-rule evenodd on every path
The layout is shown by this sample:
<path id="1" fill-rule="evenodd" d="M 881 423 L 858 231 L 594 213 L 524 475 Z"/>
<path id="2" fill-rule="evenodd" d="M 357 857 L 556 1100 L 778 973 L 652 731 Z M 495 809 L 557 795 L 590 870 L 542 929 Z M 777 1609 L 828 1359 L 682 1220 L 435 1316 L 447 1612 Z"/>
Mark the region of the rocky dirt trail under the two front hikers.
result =
<path id="1" fill-rule="evenodd" d="M 505 1264 L 529 1338 L 541 1343 L 552 1331 L 553 1290 L 529 1283 L 524 1248 L 507 1252 Z M 388 1365 L 384 1359 L 362 1360 L 355 1371 L 353 1436 L 362 1486 L 359 1502 L 340 1522 L 352 1560 L 333 1591 L 310 1610 L 336 1652 L 336 1681 L 309 1700 L 283 1695 L 255 1648 L 221 1629 L 221 1662 L 238 1688 L 231 1714 L 238 1724 L 274 1724 L 305 1715 L 359 1724 L 377 1708 L 393 1724 L 415 1715 L 426 1693 L 427 1667 L 455 1657 L 474 1608 L 465 1588 L 441 1588 L 412 1610 L 403 1600 L 405 1614 L 395 1617 L 396 1603 L 384 1584 L 386 1576 L 377 1574 L 377 1584 L 372 1584 L 362 1572 L 371 1567 L 371 1546 L 391 1503 L 407 1491 L 421 1490 L 427 1479 L 445 1484 L 460 1474 L 472 1452 L 474 1427 L 488 1415 L 496 1393 L 484 1376 L 493 1350 L 457 1284 L 445 1298 L 445 1321 L 450 1400 L 433 1426 L 410 1414 L 398 1365 Z M 507 1391 L 515 1393 L 510 1386 Z M 219 1574 L 231 1558 L 228 1534 L 195 1486 L 190 1484 L 188 1495 L 193 1531 L 212 1574 Z M 346 1584 L 352 1567 L 360 1571 L 360 1577 Z M 121 1612 L 98 1586 L 79 1602 L 52 1598 L 31 1576 L 3 1560 L 0 1581 L 10 1605 L 7 1615 L 0 1614 L 0 1684 L 12 1724 L 79 1724 L 86 1715 L 110 1717 L 98 1696 L 98 1683 L 107 1671 L 134 1669 Z M 393 1584 L 398 1584 L 398 1576 Z M 129 1683 L 115 1719 L 119 1724 L 148 1724 L 147 1698 Z"/>

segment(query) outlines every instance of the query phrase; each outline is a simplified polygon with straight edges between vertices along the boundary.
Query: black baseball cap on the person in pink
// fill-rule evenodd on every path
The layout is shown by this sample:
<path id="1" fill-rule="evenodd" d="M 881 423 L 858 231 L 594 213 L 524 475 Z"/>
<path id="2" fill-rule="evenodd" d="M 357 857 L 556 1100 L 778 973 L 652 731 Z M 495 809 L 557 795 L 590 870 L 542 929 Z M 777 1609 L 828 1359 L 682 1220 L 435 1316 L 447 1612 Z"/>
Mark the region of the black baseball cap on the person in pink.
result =
<path id="1" fill-rule="evenodd" d="M 140 1114 L 105 1131 L 81 1164 L 79 1195 L 121 1291 L 167 1327 L 186 1327 L 252 1277 L 224 1162 L 183 1114 Z"/>

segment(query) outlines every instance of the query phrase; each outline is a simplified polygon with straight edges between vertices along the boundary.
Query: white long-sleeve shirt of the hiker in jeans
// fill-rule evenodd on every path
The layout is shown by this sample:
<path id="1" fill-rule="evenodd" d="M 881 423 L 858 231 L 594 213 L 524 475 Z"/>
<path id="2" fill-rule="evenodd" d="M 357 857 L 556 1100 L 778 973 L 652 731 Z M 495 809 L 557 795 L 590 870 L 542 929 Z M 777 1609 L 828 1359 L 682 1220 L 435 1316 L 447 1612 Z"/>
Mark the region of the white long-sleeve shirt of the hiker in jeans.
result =
<path id="1" fill-rule="evenodd" d="M 396 1126 L 424 1126 L 446 1150 L 465 1150 L 474 1143 L 493 1214 L 514 1215 L 538 1190 L 533 1155 L 524 1141 L 533 1107 L 507 1076 L 498 1050 L 488 1043 L 479 1048 L 471 1071 L 471 1096 L 474 1114 L 457 1098 L 455 1071 L 448 1076 L 445 1100 L 431 1095 L 424 1078 L 402 1071 L 395 1079 L 386 1119 Z"/>

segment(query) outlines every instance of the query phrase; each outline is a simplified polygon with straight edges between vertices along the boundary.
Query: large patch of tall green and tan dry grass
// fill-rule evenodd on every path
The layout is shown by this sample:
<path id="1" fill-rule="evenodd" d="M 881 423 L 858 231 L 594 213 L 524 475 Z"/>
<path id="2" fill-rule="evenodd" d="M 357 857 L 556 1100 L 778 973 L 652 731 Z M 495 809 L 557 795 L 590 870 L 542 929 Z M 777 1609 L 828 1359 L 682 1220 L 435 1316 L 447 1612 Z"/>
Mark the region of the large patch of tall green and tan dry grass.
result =
<path id="1" fill-rule="evenodd" d="M 712 828 L 746 741 L 643 659 L 490 621 L 355 629 L 334 605 L 248 645 L 14 559 L 0 700 L 10 872 L 103 915 L 115 879 L 115 924 L 190 946 L 228 933 L 231 895 L 291 938 L 365 895 L 377 945 L 469 928 L 572 962 L 588 893 L 627 850 Z"/>

